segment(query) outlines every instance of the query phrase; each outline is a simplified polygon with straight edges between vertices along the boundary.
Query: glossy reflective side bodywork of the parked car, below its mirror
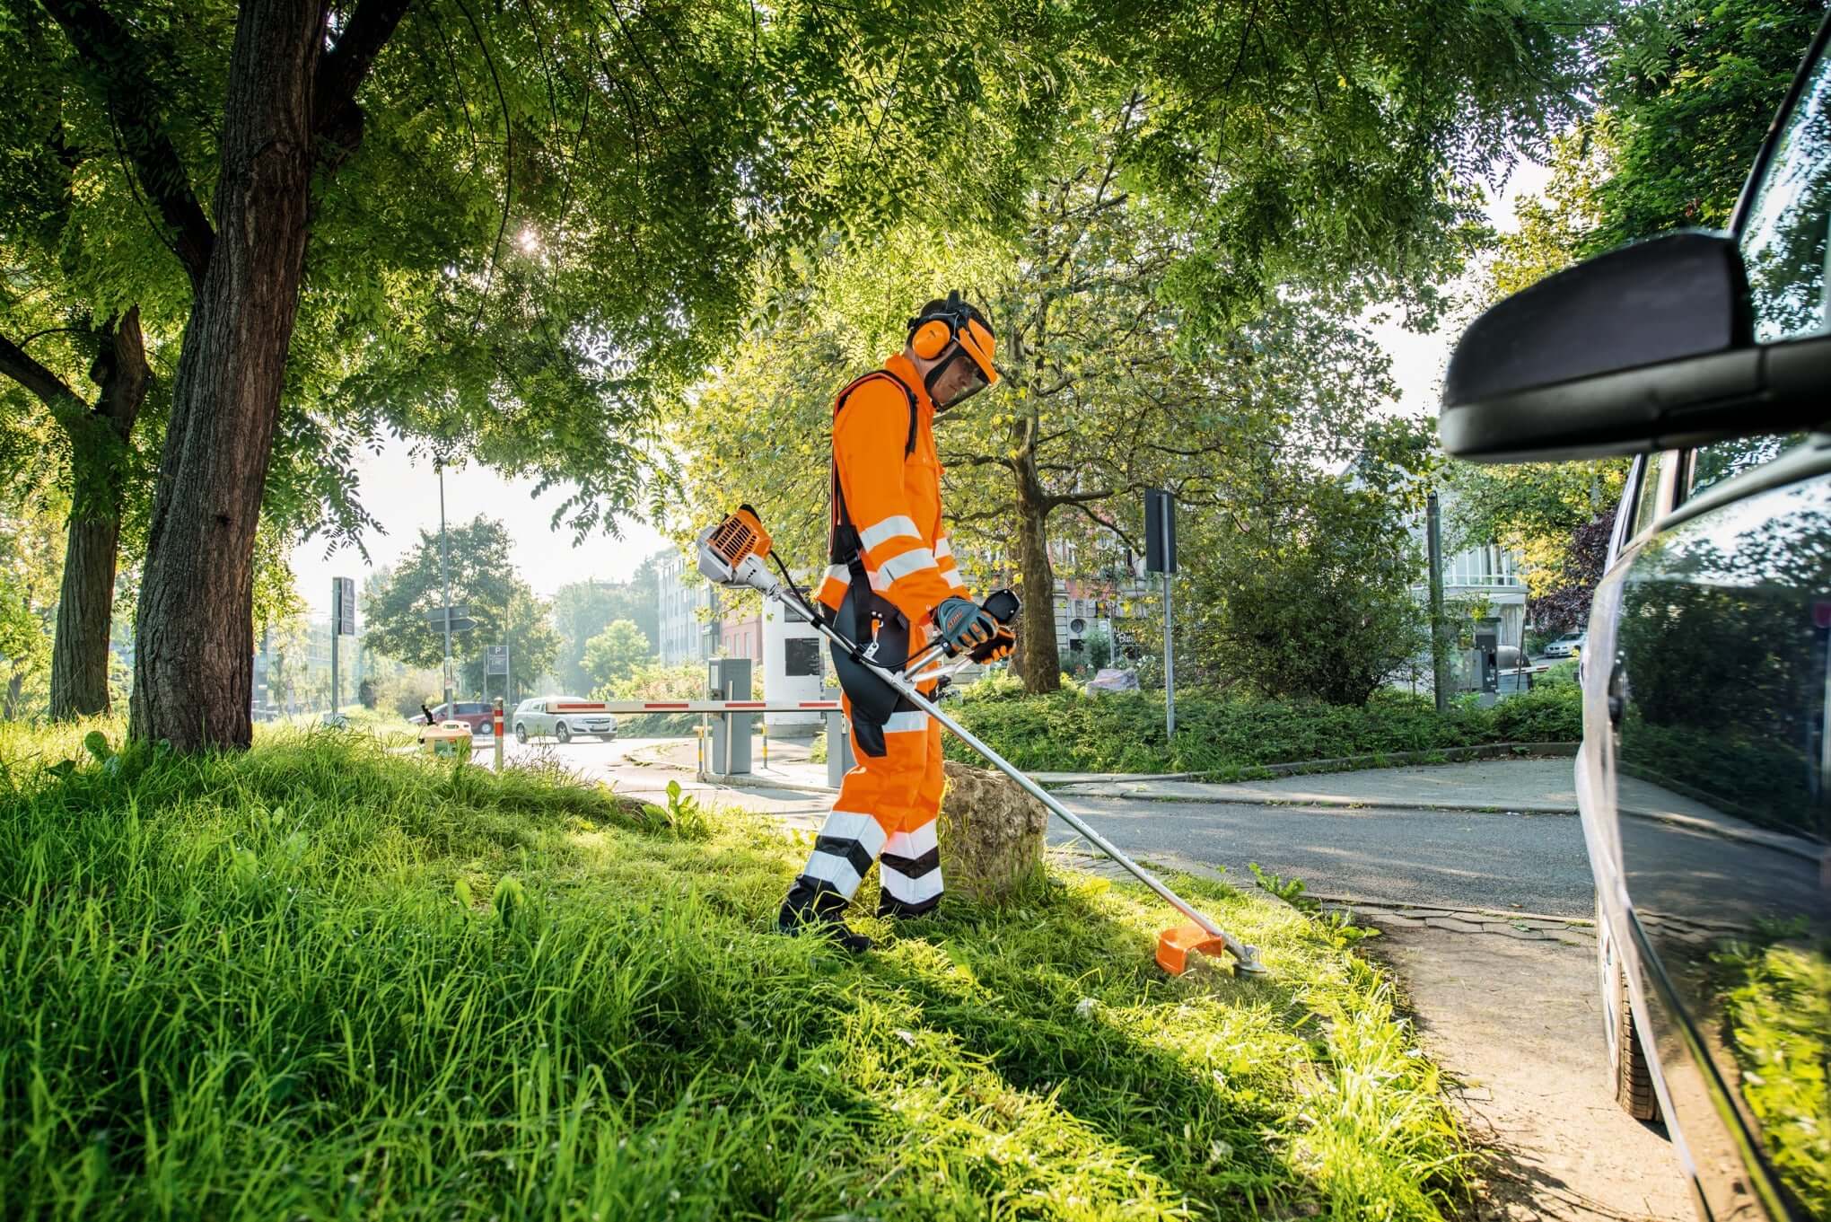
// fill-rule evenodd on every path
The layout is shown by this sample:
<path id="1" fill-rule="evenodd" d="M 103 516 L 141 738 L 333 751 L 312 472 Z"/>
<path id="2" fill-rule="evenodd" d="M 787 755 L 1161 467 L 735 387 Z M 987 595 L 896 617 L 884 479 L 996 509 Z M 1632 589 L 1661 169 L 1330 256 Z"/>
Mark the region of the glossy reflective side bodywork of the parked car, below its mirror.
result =
<path id="1" fill-rule="evenodd" d="M 1827 638 L 1831 475 L 1630 539 L 1591 619 L 1586 837 L 1712 1218 L 1818 1215 Z"/>

